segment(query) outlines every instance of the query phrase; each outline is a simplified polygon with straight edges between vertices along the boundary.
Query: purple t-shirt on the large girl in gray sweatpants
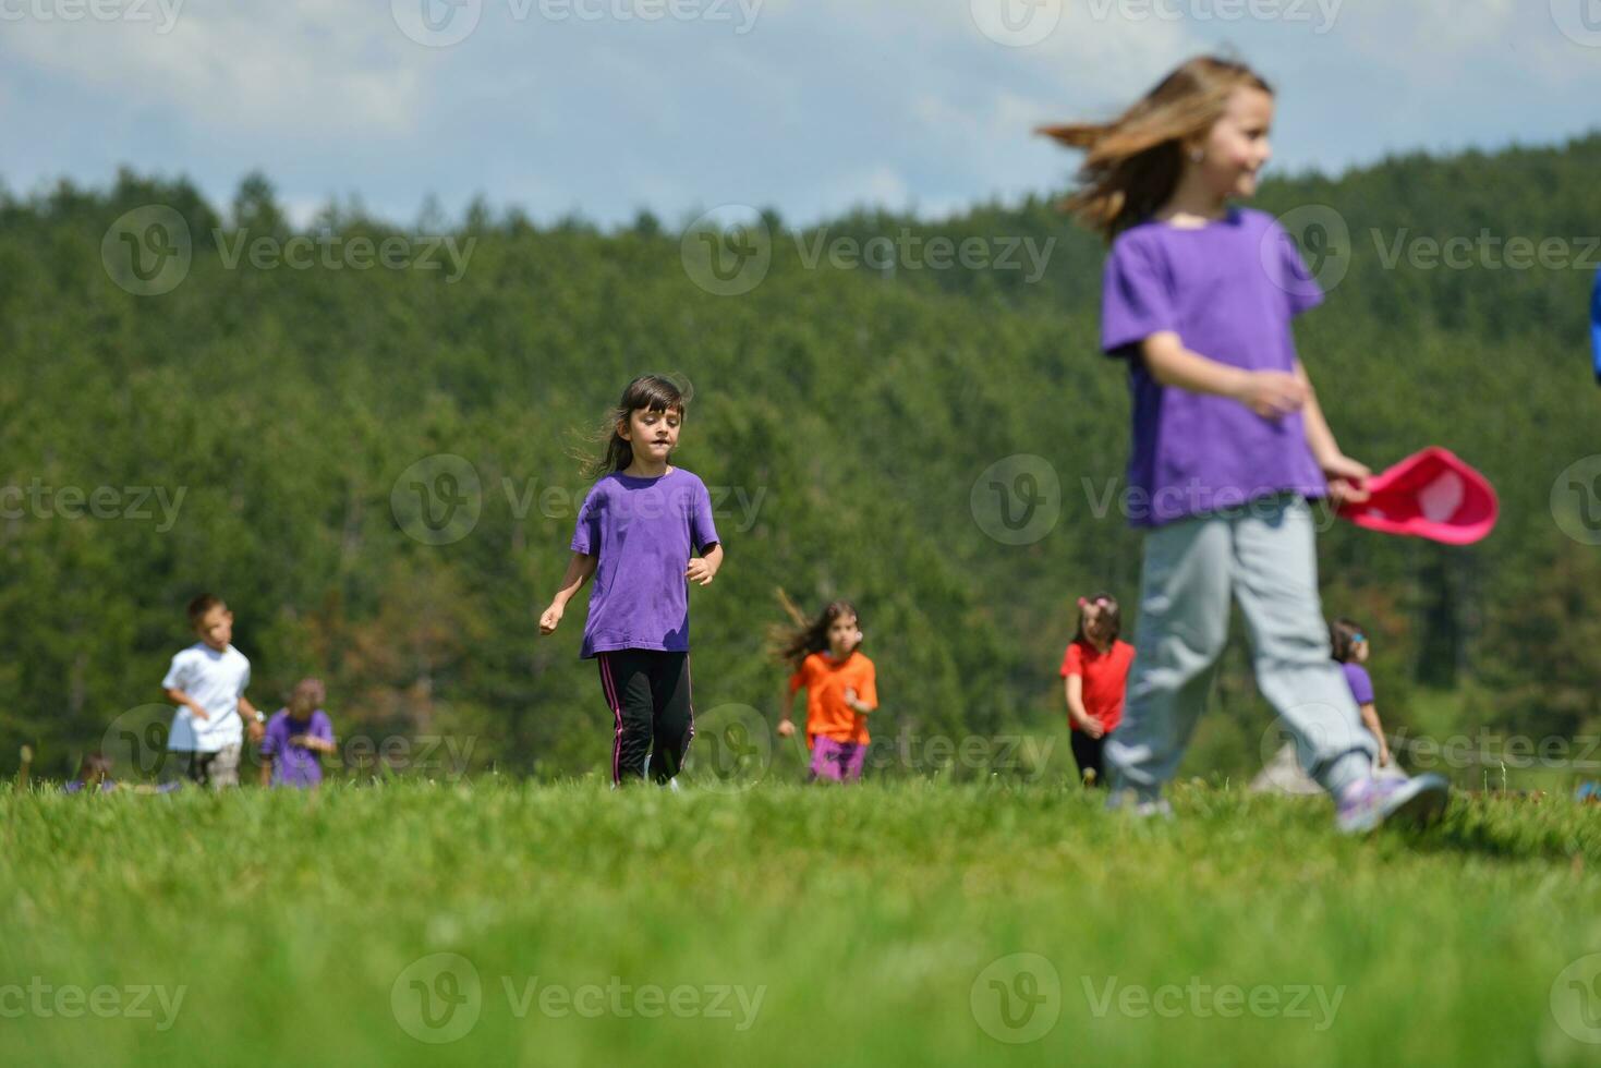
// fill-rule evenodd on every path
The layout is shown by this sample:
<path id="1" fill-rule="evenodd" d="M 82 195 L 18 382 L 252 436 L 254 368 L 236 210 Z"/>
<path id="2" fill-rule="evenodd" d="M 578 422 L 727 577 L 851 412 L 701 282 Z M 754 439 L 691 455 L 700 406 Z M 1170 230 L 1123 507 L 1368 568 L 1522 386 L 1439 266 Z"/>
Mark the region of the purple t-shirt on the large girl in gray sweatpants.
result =
<path id="1" fill-rule="evenodd" d="M 1233 208 L 1188 231 L 1148 221 L 1117 235 L 1101 290 L 1101 349 L 1132 357 L 1134 527 L 1274 493 L 1327 493 L 1298 412 L 1265 420 L 1238 400 L 1159 386 L 1138 351 L 1145 338 L 1170 330 L 1218 363 L 1290 373 L 1290 319 L 1321 303 L 1295 243 L 1265 211 Z"/>

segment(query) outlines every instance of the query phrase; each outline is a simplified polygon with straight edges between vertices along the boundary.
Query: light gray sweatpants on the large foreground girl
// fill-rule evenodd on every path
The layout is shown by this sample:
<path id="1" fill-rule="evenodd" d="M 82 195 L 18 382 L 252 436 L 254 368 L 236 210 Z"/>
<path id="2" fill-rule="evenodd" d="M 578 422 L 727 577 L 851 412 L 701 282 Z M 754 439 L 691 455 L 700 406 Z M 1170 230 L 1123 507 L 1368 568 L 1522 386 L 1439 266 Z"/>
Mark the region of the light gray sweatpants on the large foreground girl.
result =
<path id="1" fill-rule="evenodd" d="M 1318 597 L 1311 506 L 1260 498 L 1146 533 L 1140 618 L 1122 724 L 1106 740 L 1114 789 L 1154 797 L 1174 777 L 1228 640 L 1230 597 L 1246 615 L 1257 687 L 1324 789 L 1372 773 L 1362 727 Z"/>

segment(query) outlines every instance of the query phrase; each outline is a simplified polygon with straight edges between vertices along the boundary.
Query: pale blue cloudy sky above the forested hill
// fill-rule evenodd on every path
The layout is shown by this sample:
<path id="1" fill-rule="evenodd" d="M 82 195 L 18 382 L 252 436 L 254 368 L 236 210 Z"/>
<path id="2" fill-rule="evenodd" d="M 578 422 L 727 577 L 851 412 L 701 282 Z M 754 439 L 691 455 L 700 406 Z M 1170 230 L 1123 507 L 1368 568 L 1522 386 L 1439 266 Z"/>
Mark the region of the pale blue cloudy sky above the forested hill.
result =
<path id="1" fill-rule="evenodd" d="M 1061 191 L 1033 126 L 1225 48 L 1278 90 L 1274 170 L 1601 126 L 1601 0 L 0 0 L 0 183 L 933 218 Z"/>

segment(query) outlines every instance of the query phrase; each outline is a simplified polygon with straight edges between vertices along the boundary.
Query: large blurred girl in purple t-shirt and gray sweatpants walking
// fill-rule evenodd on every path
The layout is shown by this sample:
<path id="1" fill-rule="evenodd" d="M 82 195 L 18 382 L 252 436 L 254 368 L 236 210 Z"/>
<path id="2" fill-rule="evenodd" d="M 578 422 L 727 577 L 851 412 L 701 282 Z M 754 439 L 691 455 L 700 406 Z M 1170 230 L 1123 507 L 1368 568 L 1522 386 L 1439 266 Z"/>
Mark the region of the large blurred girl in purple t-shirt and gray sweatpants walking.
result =
<path id="1" fill-rule="evenodd" d="M 1167 813 L 1162 785 L 1206 706 L 1238 599 L 1257 685 L 1342 831 L 1446 802 L 1438 775 L 1374 775 L 1377 746 L 1329 658 L 1308 498 L 1366 500 L 1334 439 L 1290 320 L 1322 293 L 1279 223 L 1230 207 L 1268 162 L 1273 90 L 1202 56 L 1105 123 L 1047 126 L 1085 151 L 1066 207 L 1111 242 L 1101 349 L 1134 400 L 1127 514 L 1146 528 L 1138 655 L 1106 743 L 1109 804 Z"/>

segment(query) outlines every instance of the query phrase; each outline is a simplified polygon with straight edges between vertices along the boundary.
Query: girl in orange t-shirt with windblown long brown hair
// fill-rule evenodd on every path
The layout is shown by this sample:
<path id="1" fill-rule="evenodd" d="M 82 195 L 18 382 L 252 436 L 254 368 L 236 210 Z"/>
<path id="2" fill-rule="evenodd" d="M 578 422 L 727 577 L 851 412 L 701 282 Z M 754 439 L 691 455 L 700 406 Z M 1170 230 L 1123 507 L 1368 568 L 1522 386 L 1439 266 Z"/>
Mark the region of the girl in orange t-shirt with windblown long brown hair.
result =
<path id="1" fill-rule="evenodd" d="M 783 594 L 780 594 L 783 599 Z M 834 600 L 812 621 L 784 600 L 794 629 L 778 629 L 773 653 L 789 664 L 778 737 L 794 735 L 789 719 L 796 693 L 805 690 L 805 743 L 812 749 L 812 781 L 853 783 L 868 756 L 868 714 L 879 706 L 873 661 L 857 648 L 861 626 L 855 605 Z"/>

